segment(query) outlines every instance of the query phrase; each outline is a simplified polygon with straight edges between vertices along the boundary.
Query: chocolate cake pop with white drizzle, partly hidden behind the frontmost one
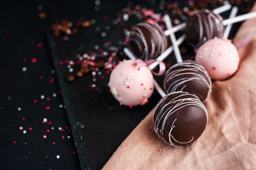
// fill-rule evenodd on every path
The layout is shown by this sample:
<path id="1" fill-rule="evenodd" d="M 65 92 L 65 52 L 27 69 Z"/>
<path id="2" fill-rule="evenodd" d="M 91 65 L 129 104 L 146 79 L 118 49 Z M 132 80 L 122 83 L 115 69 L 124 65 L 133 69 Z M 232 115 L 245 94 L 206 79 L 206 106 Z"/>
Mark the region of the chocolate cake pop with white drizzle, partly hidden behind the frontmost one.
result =
<path id="1" fill-rule="evenodd" d="M 195 61 L 185 60 L 166 71 L 164 90 L 166 93 L 189 92 L 204 102 L 211 93 L 211 79 L 202 65 Z"/>

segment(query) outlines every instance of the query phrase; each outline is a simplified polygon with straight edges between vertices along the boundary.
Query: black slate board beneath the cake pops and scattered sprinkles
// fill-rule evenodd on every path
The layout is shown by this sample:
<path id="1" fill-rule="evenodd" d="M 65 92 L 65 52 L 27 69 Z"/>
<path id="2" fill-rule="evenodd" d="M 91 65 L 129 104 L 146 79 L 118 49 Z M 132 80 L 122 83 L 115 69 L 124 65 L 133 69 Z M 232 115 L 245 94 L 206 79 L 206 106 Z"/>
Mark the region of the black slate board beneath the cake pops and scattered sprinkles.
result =
<path id="1" fill-rule="evenodd" d="M 93 84 L 92 75 L 87 74 L 82 78 L 77 78 L 73 83 L 66 82 L 66 76 L 70 73 L 64 65 L 59 62 L 65 59 L 75 60 L 76 54 L 88 53 L 88 50 L 94 50 L 95 45 L 100 47 L 106 41 L 112 40 L 113 44 L 117 45 L 119 40 L 124 39 L 124 34 L 120 38 L 116 38 L 116 33 L 123 33 L 123 28 L 140 22 L 140 20 L 129 20 L 125 26 L 113 26 L 112 21 L 115 19 L 117 12 L 123 7 L 127 7 L 127 2 L 102 2 L 99 12 L 93 12 L 95 15 L 85 17 L 85 19 L 93 18 L 97 21 L 96 24 L 89 28 L 80 29 L 77 35 L 70 37 L 68 41 L 63 41 L 60 38 L 52 37 L 52 33 L 48 30 L 47 37 L 51 49 L 52 59 L 56 68 L 57 78 L 61 87 L 63 100 L 67 107 L 67 116 L 69 118 L 72 133 L 74 136 L 79 160 L 82 169 L 100 169 L 112 156 L 121 142 L 129 135 L 129 133 L 139 124 L 139 122 L 153 109 L 160 100 L 159 94 L 155 91 L 150 98 L 148 104 L 143 107 L 133 107 L 132 109 L 124 106 L 119 106 L 118 102 L 112 97 L 107 86 L 109 75 L 104 74 L 106 78 L 102 80 L 97 76 L 97 87 L 90 88 Z M 148 9 L 158 9 L 159 4 L 148 2 L 137 2 L 142 7 Z M 156 2 L 159 3 L 159 2 Z M 136 4 L 134 2 L 134 4 Z M 180 3 L 180 6 L 182 4 Z M 228 12 L 225 13 L 226 17 Z M 108 15 L 108 21 L 102 18 Z M 97 26 L 104 29 L 106 25 L 110 26 L 106 37 L 101 37 L 101 31 L 95 31 Z M 232 28 L 233 35 L 238 26 Z M 233 36 L 231 35 L 231 36 Z M 193 55 L 193 49 L 184 43 L 188 50 L 183 59 L 187 59 Z M 169 60 L 175 63 L 175 58 L 170 57 Z M 74 72 L 79 70 L 77 65 Z M 101 72 L 106 70 L 101 69 Z M 162 86 L 163 76 L 155 77 Z"/>

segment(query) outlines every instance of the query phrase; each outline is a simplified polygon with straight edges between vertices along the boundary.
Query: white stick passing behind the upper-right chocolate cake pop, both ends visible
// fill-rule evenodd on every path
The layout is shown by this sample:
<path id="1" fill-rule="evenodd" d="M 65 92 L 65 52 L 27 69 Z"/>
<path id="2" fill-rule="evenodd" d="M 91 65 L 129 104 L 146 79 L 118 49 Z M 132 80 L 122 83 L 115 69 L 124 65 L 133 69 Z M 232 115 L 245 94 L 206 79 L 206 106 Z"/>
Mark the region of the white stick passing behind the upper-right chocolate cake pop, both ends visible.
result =
<path id="1" fill-rule="evenodd" d="M 225 11 L 227 11 L 229 9 L 231 9 L 231 5 L 229 3 L 227 3 L 227 4 L 225 4 L 225 5 L 221 6 L 221 7 L 213 9 L 213 13 L 219 14 L 219 13 L 225 12 Z M 175 33 L 177 31 L 179 31 L 181 28 L 184 28 L 185 26 L 186 26 L 186 22 L 184 22 L 184 23 L 182 23 L 180 25 L 174 26 L 173 28 L 164 31 L 164 35 L 168 36 L 171 33 Z"/>

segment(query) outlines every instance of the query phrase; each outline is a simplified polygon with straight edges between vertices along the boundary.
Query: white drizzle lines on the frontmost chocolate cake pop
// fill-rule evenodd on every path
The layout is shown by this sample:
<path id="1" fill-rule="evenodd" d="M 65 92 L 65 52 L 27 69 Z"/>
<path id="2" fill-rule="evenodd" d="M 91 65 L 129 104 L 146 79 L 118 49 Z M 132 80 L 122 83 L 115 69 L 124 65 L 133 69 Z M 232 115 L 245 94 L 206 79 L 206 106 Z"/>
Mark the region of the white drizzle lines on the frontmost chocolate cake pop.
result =
<path id="1" fill-rule="evenodd" d="M 169 99 L 168 96 L 170 95 L 173 95 L 173 94 L 179 94 L 181 93 L 180 95 L 177 95 L 175 98 L 173 99 Z M 182 99 L 177 99 L 177 98 L 180 98 L 182 96 L 186 96 L 186 98 L 182 98 Z M 189 98 L 189 96 L 191 96 L 192 98 Z M 176 100 L 177 99 L 177 100 Z M 164 100 L 170 100 L 168 101 L 164 107 L 162 107 L 160 109 L 159 112 L 156 112 L 159 108 L 159 105 L 162 104 L 164 102 Z M 196 105 L 200 108 L 202 108 L 204 110 L 204 113 L 206 114 L 206 117 L 207 117 L 207 124 L 208 124 L 208 113 L 207 113 L 207 109 L 204 107 L 204 105 L 202 104 L 202 102 L 200 102 L 199 98 L 193 94 L 189 94 L 187 92 L 173 92 L 173 93 L 170 93 L 170 94 L 167 94 L 164 98 L 162 98 L 156 108 L 155 108 L 155 113 L 154 113 L 154 118 L 155 118 L 155 114 L 157 114 L 157 117 L 155 118 L 155 121 L 153 121 L 154 123 L 154 129 L 155 129 L 155 132 L 157 133 L 157 135 L 162 139 L 164 140 L 164 142 L 166 142 L 167 144 L 171 145 L 171 146 L 176 146 L 173 142 L 172 142 L 172 139 L 177 142 L 177 143 L 180 143 L 180 144 L 186 144 L 186 143 L 189 143 L 191 141 L 193 141 L 194 137 L 192 137 L 192 139 L 190 141 L 187 141 L 187 142 L 180 142 L 180 141 L 177 141 L 175 139 L 175 137 L 173 137 L 173 135 L 171 135 L 171 131 L 175 128 L 175 121 L 177 119 L 175 119 L 171 125 L 171 129 L 170 131 L 168 132 L 168 140 L 167 139 L 164 139 L 163 135 L 163 131 L 164 131 L 164 126 L 165 126 L 165 123 L 168 119 L 169 116 L 171 116 L 171 114 L 175 113 L 176 111 L 178 111 L 179 109 L 183 108 L 183 107 L 188 107 L 190 105 Z M 167 108 L 165 110 L 165 108 Z M 165 111 L 164 111 L 165 110 Z M 162 121 L 162 126 L 159 127 L 159 123 Z"/>

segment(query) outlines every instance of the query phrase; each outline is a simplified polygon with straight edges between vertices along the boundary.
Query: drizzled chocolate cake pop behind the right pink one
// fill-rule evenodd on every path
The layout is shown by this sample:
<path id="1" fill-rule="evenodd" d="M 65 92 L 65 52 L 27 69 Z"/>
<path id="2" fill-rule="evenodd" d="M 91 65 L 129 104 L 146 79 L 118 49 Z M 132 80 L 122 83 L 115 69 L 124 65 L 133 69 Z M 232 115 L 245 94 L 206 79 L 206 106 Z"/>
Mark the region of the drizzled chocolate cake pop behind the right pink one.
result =
<path id="1" fill-rule="evenodd" d="M 186 21 L 186 41 L 193 47 L 199 47 L 214 37 L 222 37 L 224 25 L 222 17 L 208 9 L 199 10 Z"/>

